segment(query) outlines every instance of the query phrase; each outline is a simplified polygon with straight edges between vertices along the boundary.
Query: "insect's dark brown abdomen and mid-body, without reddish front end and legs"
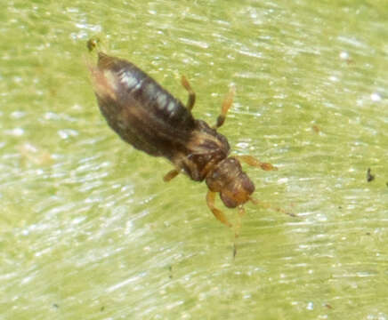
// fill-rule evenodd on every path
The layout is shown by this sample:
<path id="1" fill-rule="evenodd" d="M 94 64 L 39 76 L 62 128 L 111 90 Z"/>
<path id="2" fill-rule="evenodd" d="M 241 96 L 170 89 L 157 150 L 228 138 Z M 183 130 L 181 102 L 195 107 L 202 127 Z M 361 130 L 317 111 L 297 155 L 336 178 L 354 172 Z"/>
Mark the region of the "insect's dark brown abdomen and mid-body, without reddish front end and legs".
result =
<path id="1" fill-rule="evenodd" d="M 205 179 L 209 163 L 228 156 L 222 134 L 195 120 L 180 100 L 132 63 L 100 53 L 93 76 L 102 115 L 134 148 L 165 156 L 197 181 Z M 107 86 L 115 87 L 111 94 Z"/>

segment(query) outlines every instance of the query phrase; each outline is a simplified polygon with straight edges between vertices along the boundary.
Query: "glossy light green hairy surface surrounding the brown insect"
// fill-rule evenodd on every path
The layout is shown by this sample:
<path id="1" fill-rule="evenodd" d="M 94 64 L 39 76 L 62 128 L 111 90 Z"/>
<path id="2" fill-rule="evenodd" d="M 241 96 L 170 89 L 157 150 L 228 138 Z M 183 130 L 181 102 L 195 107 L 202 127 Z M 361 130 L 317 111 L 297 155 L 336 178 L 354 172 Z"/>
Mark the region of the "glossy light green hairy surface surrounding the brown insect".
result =
<path id="1" fill-rule="evenodd" d="M 388 318 L 386 1 L 8 1 L 0 32 L 0 319 Z M 212 124 L 235 84 L 221 132 L 298 218 L 247 204 L 233 260 L 206 185 L 105 124 L 91 36 Z"/>

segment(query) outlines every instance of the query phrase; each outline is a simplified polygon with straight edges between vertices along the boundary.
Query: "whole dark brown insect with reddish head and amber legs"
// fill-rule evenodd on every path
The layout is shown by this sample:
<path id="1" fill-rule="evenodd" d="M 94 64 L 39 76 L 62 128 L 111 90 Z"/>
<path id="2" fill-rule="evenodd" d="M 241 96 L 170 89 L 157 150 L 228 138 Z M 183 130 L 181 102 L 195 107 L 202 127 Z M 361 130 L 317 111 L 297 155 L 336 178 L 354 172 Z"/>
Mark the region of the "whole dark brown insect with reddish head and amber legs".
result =
<path id="1" fill-rule="evenodd" d="M 90 43 L 93 47 L 93 43 Z M 88 43 L 89 46 L 89 43 Z M 206 202 L 215 218 L 231 227 L 223 212 L 215 207 L 219 193 L 228 208 L 252 200 L 255 185 L 243 172 L 239 161 L 263 170 L 277 170 L 252 156 L 230 156 L 228 140 L 217 129 L 222 126 L 235 94 L 234 87 L 222 103 L 216 124 L 209 126 L 195 119 L 191 110 L 196 94 L 182 76 L 182 86 L 189 93 L 186 106 L 133 63 L 98 52 L 97 66 L 90 66 L 93 89 L 109 126 L 122 140 L 150 156 L 164 156 L 174 170 L 164 180 L 184 173 L 195 181 L 206 181 Z"/>

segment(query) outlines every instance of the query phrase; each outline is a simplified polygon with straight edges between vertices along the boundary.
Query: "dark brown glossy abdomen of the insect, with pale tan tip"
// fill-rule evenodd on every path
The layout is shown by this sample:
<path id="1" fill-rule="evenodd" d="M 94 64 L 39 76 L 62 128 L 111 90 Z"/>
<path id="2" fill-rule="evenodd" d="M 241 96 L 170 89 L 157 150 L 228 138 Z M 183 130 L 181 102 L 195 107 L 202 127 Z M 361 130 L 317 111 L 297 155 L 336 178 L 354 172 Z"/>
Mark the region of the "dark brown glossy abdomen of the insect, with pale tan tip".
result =
<path id="1" fill-rule="evenodd" d="M 103 116 L 133 147 L 171 158 L 190 139 L 190 111 L 131 62 L 99 53 L 92 75 Z"/>

